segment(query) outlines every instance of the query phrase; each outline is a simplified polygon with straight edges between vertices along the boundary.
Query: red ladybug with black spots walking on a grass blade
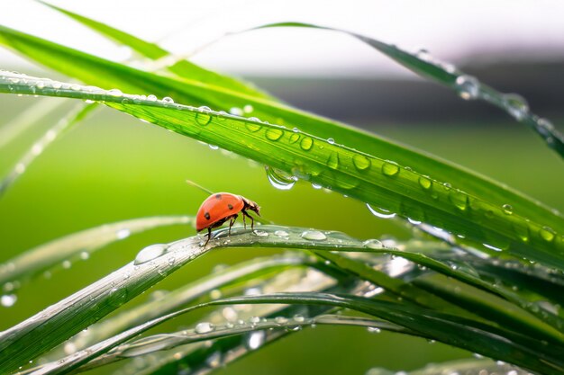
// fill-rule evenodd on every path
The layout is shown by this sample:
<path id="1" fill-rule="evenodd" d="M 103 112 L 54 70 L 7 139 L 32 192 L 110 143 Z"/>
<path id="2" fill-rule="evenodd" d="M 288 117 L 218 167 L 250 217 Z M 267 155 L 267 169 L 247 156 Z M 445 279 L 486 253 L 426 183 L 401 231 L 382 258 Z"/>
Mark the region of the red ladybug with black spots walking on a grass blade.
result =
<path id="1" fill-rule="evenodd" d="M 216 192 L 210 195 L 200 206 L 196 214 L 196 231 L 207 228 L 207 241 L 212 237 L 212 228 L 222 226 L 229 220 L 229 234 L 235 219 L 239 216 L 239 212 L 243 216 L 243 225 L 247 228 L 245 217 L 250 219 L 250 228 L 254 229 L 255 220 L 247 213 L 247 210 L 253 210 L 260 216 L 260 207 L 254 201 L 250 201 L 241 195 L 235 195 L 230 192 Z"/>

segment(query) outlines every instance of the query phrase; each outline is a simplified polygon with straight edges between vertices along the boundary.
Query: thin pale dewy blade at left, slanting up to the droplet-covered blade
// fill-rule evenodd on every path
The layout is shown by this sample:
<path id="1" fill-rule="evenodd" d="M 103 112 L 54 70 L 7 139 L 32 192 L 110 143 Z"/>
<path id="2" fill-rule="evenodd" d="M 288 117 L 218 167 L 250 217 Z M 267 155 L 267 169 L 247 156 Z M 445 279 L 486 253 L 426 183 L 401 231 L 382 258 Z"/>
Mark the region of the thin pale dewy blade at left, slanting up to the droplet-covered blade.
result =
<path id="1" fill-rule="evenodd" d="M 83 106 L 80 104 L 77 109 L 73 112 L 68 113 L 66 117 L 61 119 L 54 127 L 49 129 L 41 138 L 39 138 L 14 165 L 12 171 L 10 171 L 2 180 L 0 180 L 0 197 L 4 195 L 6 190 L 12 186 L 15 180 L 20 177 L 27 167 L 32 164 L 33 160 L 37 156 L 40 156 L 45 147 L 49 147 L 50 144 L 63 133 L 68 131 L 78 122 L 84 120 L 86 116 L 96 109 L 96 104 Z M 0 274 L 0 282 L 1 274 Z"/>

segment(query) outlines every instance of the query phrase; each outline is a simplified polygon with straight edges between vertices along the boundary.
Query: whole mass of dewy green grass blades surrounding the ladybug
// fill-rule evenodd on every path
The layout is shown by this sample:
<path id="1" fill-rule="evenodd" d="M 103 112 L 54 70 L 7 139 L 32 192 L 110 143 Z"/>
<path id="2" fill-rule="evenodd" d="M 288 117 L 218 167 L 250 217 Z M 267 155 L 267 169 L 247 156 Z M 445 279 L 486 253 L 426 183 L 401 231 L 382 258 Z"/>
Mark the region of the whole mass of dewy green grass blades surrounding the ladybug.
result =
<path id="1" fill-rule="evenodd" d="M 169 58 L 156 45 L 55 9 L 143 58 Z M 298 23 L 263 27 L 287 26 L 314 27 Z M 415 72 L 449 85 L 465 99 L 502 107 L 563 154 L 561 135 L 514 95 L 499 94 L 427 57 L 351 35 Z M 41 150 L 104 104 L 268 165 L 268 178 L 275 184 L 315 183 L 362 201 L 380 215 L 409 220 L 417 228 L 411 240 L 384 245 L 336 231 L 263 225 L 253 232 L 234 228 L 231 237 L 217 230 L 209 246 L 203 246 L 199 236 L 147 246 L 132 263 L 1 333 L 1 372 L 16 371 L 42 354 L 45 362 L 29 371 L 86 371 L 132 357 L 151 359 L 142 373 L 210 370 L 315 324 L 385 329 L 437 340 L 528 371 L 564 371 L 564 320 L 559 310 L 564 220 L 559 212 L 457 165 L 298 111 L 244 82 L 184 59 L 171 58 L 164 75 L 5 27 L 0 27 L 0 43 L 85 84 L 2 72 L 1 93 L 86 101 L 36 143 Z M 247 105 L 257 118 L 228 113 Z M 40 153 L 32 148 L 3 181 L 3 190 Z M 0 267 L 0 281 L 12 292 L 15 284 L 33 281 L 73 254 L 88 254 L 121 239 L 120 230 L 127 230 L 127 237 L 134 231 L 192 221 L 190 217 L 146 218 L 77 233 L 8 260 Z M 106 317 L 216 247 L 296 252 L 234 265 L 156 302 Z M 268 292 L 241 296 L 257 286 Z M 223 298 L 205 297 L 214 290 Z M 227 321 L 221 310 L 213 310 L 194 328 L 135 338 L 172 318 L 226 304 L 250 308 L 232 308 L 233 318 Z M 88 335 L 80 335 L 86 328 Z M 216 341 L 202 344 L 209 339 Z M 168 352 L 173 348 L 174 353 Z M 505 364 L 476 360 L 460 366 L 500 369 Z"/>

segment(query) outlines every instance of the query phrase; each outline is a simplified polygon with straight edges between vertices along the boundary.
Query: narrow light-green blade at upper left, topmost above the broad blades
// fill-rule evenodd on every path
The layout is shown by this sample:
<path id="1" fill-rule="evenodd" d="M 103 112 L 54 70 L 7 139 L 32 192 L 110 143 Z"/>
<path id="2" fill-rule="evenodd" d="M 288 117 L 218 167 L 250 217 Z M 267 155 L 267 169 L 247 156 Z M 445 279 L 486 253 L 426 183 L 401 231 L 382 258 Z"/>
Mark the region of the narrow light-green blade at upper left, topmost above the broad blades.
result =
<path id="1" fill-rule="evenodd" d="M 161 49 L 157 44 L 141 40 L 133 36 L 132 34 L 114 29 L 113 27 L 106 25 L 105 23 L 97 22 L 83 15 L 72 13 L 66 9 L 60 8 L 59 6 L 48 4 L 42 1 L 39 2 L 41 4 L 49 6 L 55 11 L 67 15 L 73 20 L 82 23 L 86 27 L 99 32 L 105 37 L 114 40 L 115 42 L 123 46 L 130 47 L 145 58 L 158 60 L 160 58 L 166 58 L 170 56 L 169 52 L 166 49 Z M 187 60 L 177 61 L 175 64 L 168 66 L 167 69 L 177 76 L 182 76 L 184 78 L 193 79 L 210 85 L 225 87 L 232 91 L 240 92 L 253 97 L 272 99 L 270 96 L 268 96 L 268 94 L 262 93 L 261 91 L 259 91 L 259 89 L 252 87 L 248 83 L 241 82 L 230 76 L 220 75 L 211 70 L 199 67 Z"/>

